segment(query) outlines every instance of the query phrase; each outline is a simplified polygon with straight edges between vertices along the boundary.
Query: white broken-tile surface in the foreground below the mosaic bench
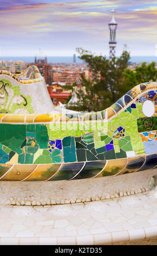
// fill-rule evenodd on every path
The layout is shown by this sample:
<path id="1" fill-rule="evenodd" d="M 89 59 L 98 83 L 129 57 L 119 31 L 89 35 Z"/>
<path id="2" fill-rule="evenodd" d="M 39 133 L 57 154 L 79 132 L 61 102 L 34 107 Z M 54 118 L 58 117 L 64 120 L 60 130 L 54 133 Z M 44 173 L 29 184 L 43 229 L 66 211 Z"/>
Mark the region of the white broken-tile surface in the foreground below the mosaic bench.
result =
<path id="1" fill-rule="evenodd" d="M 1 245 L 102 245 L 157 236 L 157 187 L 53 206 L 0 206 Z"/>

